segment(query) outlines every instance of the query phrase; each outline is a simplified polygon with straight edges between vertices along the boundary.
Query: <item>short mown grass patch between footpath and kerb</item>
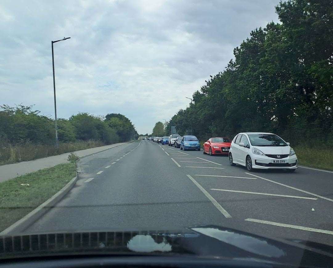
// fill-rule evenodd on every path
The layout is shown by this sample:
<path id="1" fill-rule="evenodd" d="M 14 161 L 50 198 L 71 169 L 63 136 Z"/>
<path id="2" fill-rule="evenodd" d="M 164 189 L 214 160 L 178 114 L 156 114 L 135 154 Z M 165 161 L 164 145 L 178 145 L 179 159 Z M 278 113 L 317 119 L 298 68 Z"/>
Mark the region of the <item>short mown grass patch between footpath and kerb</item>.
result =
<path id="1" fill-rule="evenodd" d="M 68 163 L 1 182 L 0 231 L 45 202 L 75 176 L 75 163 Z"/>

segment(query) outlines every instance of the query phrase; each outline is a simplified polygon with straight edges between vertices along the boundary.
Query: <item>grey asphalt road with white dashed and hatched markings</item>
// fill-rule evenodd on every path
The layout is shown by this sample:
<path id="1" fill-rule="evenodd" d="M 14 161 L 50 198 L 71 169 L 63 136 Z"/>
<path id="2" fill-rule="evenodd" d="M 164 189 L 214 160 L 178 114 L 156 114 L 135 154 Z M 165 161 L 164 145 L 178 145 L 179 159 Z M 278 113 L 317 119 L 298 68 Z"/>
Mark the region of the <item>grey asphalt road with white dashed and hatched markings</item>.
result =
<path id="1" fill-rule="evenodd" d="M 219 225 L 333 245 L 331 172 L 247 172 L 149 140 L 88 156 L 80 169 L 76 186 L 24 233 Z"/>

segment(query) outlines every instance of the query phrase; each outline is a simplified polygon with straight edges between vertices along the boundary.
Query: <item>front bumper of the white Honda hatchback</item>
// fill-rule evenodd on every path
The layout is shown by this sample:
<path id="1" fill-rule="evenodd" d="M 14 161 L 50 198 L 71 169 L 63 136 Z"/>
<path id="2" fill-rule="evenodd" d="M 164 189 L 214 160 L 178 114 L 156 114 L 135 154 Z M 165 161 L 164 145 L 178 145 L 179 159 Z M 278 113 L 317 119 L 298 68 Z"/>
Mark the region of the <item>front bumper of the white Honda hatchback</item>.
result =
<path id="1" fill-rule="evenodd" d="M 282 159 L 275 159 L 268 156 L 251 156 L 252 168 L 257 169 L 296 169 L 297 157 L 296 155 L 288 156 Z M 284 163 L 272 163 L 272 160 L 283 160 Z"/>

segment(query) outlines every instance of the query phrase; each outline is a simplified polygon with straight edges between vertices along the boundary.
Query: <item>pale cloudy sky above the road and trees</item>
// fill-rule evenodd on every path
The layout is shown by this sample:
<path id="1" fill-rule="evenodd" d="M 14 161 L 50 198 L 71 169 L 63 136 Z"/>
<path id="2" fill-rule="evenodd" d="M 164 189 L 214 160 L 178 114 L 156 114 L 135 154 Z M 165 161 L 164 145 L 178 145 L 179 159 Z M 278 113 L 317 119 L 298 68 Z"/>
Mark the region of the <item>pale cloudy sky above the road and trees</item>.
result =
<path id="1" fill-rule="evenodd" d="M 0 104 L 54 117 L 122 113 L 139 133 L 186 108 L 256 27 L 278 22 L 279 0 L 4 1 Z"/>

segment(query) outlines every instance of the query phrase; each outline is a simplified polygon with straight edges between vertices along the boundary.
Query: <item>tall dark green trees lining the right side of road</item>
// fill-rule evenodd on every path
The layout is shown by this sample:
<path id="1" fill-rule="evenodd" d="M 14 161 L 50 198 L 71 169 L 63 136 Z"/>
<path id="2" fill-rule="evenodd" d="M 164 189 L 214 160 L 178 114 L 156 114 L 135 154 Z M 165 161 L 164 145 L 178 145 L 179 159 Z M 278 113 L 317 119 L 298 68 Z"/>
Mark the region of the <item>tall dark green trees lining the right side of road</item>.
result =
<path id="1" fill-rule="evenodd" d="M 265 131 L 296 144 L 333 140 L 333 1 L 292 0 L 275 9 L 281 23 L 251 31 L 225 70 L 171 118 L 167 135 L 171 126 L 183 135 L 192 124 L 200 139 Z"/>

